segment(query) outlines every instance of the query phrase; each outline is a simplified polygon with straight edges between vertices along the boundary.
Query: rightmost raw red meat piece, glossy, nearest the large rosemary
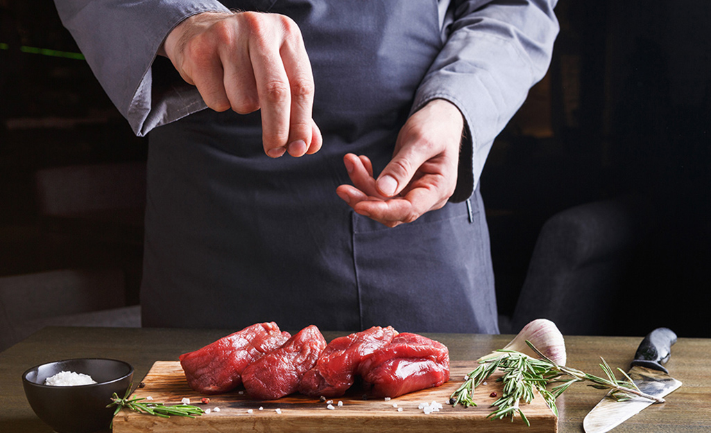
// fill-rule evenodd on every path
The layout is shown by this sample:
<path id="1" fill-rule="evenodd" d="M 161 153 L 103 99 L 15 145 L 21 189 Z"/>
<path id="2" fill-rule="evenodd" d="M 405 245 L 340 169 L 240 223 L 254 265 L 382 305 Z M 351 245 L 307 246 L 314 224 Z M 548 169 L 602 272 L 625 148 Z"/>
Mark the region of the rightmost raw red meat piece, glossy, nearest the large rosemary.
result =
<path id="1" fill-rule="evenodd" d="M 397 334 L 363 360 L 358 373 L 376 397 L 397 397 L 449 380 L 447 346 L 418 334 Z"/>

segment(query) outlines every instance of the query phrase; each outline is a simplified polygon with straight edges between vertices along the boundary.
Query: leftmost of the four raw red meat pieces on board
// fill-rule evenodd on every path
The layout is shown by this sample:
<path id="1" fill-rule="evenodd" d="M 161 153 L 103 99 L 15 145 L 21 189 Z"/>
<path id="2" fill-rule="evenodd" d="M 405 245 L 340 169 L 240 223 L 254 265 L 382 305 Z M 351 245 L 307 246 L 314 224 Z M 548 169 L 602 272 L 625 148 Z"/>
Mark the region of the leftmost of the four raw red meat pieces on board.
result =
<path id="1" fill-rule="evenodd" d="M 193 390 L 203 394 L 225 393 L 242 383 L 245 367 L 282 346 L 290 336 L 274 322 L 253 324 L 202 349 L 183 353 L 180 363 Z"/>

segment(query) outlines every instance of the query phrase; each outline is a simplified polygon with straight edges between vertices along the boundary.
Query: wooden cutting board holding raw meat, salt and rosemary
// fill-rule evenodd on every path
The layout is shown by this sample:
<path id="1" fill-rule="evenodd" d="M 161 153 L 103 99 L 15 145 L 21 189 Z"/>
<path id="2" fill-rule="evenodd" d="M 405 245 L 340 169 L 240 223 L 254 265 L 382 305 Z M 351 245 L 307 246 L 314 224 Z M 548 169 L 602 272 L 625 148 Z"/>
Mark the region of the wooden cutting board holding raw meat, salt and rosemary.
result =
<path id="1" fill-rule="evenodd" d="M 289 395 L 279 400 L 250 400 L 240 389 L 222 395 L 199 395 L 186 382 L 178 361 L 157 361 L 142 381 L 145 386 L 137 388 L 135 397 L 151 397 L 166 405 L 179 404 L 189 398 L 192 405 L 210 409 L 209 414 L 196 418 L 161 418 L 122 410 L 114 417 L 114 433 L 148 432 L 526 432 L 555 433 L 557 417 L 537 395 L 530 405 L 523 405 L 530 427 L 516 417 L 510 420 L 492 420 L 486 415 L 489 405 L 496 400 L 491 393 L 501 394 L 501 383 L 487 380 L 486 385 L 476 389 L 474 400 L 477 407 L 451 407 L 449 396 L 464 382 L 466 373 L 474 370 L 476 363 L 453 362 L 449 382 L 439 388 L 417 391 L 398 398 L 364 398 L 358 390 L 349 391 L 341 398 L 333 399 L 333 409 L 327 402 L 304 395 Z M 210 402 L 201 404 L 201 398 Z M 438 412 L 425 414 L 418 406 L 436 401 L 442 405 Z M 338 402 L 343 402 L 338 406 Z M 219 411 L 217 410 L 219 408 Z M 402 410 L 398 410 L 402 408 Z M 277 412 L 277 409 L 281 413 Z M 248 412 L 251 410 L 251 413 Z"/>

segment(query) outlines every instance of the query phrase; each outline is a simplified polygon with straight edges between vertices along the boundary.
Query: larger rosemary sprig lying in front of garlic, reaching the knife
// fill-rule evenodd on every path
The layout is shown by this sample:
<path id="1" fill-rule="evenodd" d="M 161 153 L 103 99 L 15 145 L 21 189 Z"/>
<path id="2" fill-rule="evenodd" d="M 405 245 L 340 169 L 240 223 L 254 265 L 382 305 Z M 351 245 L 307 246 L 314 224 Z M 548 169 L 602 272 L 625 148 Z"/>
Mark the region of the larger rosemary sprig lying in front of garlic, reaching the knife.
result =
<path id="1" fill-rule="evenodd" d="M 614 371 L 604 358 L 601 358 L 600 368 L 606 378 L 601 378 L 575 368 L 559 366 L 536 349 L 530 341 L 526 341 L 526 344 L 540 356 L 540 359 L 518 351 L 500 350 L 501 356 L 480 361 L 480 365 L 466 375 L 464 383 L 452 393 L 449 399 L 451 405 L 476 406 L 473 399 L 474 389 L 497 370 L 503 373 L 501 378 L 497 379 L 503 382 L 503 390 L 501 397 L 492 403 L 494 409 L 488 417 L 498 419 L 510 417 L 513 421 L 514 416 L 518 414 L 526 425 L 530 423 L 523 414 L 520 404 L 532 402 L 534 390 L 538 391 L 555 416 L 558 416 L 555 400 L 570 388 L 570 385 L 578 382 L 590 382 L 589 386 L 597 389 L 610 389 L 609 397 L 618 401 L 629 400 L 631 395 L 639 395 L 656 402 L 664 402 L 663 398 L 642 393 L 620 368 L 617 370 L 622 373 L 624 379 L 615 378 Z M 550 384 L 557 385 L 548 390 L 547 385 Z"/>

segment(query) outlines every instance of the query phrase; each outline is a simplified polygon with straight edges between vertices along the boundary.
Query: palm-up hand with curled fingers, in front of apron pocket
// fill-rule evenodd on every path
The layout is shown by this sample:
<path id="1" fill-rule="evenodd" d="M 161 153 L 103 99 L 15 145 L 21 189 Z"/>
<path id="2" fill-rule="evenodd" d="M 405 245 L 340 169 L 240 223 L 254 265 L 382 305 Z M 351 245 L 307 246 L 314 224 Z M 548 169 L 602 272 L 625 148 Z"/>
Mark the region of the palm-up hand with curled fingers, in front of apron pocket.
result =
<path id="1" fill-rule="evenodd" d="M 456 187 L 464 118 L 444 99 L 434 99 L 407 119 L 395 152 L 378 180 L 368 157 L 343 158 L 353 185 L 340 185 L 338 197 L 355 212 L 389 227 L 412 222 L 447 203 Z"/>

